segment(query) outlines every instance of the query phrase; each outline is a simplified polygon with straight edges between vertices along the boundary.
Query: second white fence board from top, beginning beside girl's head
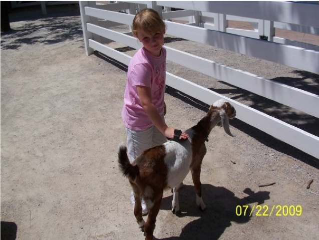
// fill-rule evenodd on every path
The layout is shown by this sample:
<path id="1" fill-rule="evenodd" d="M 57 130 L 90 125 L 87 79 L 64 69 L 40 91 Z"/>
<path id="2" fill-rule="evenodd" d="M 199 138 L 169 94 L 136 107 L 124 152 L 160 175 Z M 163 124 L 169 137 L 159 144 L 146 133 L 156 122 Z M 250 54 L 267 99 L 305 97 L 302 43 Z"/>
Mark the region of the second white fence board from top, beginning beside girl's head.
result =
<path id="1" fill-rule="evenodd" d="M 167 34 L 319 74 L 319 52 L 165 21 Z"/>

